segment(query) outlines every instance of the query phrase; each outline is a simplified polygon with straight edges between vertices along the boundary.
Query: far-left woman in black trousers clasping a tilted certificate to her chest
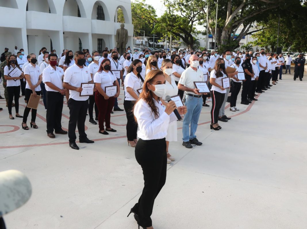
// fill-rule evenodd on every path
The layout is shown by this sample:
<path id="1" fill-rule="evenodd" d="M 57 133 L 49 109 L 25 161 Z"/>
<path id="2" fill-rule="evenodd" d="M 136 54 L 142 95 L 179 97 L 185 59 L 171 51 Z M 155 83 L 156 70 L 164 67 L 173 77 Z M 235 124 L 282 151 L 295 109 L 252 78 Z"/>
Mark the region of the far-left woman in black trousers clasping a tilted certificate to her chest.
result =
<path id="1" fill-rule="evenodd" d="M 9 109 L 10 119 L 14 119 L 12 115 L 12 103 L 13 99 L 15 101 L 15 112 L 17 118 L 22 118 L 19 115 L 19 94 L 20 94 L 20 80 L 23 78 L 23 73 L 20 76 L 10 77 L 9 73 L 15 68 L 19 67 L 16 57 L 14 55 L 10 55 L 7 61 L 7 65 L 4 67 L 4 79 L 6 80 L 6 90 L 8 96 L 7 108 Z"/>

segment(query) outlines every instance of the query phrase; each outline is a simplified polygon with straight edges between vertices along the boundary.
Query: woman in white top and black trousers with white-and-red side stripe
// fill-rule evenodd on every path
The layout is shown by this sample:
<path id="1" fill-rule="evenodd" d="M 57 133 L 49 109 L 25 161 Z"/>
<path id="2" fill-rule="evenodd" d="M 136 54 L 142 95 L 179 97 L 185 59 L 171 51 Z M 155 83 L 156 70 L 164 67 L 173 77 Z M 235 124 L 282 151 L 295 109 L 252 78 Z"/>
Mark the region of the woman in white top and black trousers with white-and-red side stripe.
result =
<path id="1" fill-rule="evenodd" d="M 211 124 L 210 128 L 214 130 L 220 130 L 221 127 L 218 124 L 220 108 L 223 105 L 226 90 L 222 86 L 222 79 L 227 77 L 225 62 L 223 58 L 218 58 L 215 61 L 214 69 L 210 73 L 211 97 Z"/>

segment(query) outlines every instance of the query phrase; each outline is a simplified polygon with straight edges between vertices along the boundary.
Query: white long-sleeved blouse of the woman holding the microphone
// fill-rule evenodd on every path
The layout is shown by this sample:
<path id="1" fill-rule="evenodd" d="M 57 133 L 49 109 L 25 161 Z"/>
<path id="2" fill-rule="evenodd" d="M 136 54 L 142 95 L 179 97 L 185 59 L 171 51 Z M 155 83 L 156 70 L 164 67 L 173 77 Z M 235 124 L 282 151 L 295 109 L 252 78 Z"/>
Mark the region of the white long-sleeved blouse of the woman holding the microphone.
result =
<path id="1" fill-rule="evenodd" d="M 155 118 L 152 109 L 143 99 L 140 99 L 134 106 L 134 116 L 139 126 L 138 137 L 142 140 L 165 138 L 169 123 L 177 120 L 174 113 L 168 115 L 156 100 L 154 100 L 154 103 L 158 108 L 158 118 Z"/>

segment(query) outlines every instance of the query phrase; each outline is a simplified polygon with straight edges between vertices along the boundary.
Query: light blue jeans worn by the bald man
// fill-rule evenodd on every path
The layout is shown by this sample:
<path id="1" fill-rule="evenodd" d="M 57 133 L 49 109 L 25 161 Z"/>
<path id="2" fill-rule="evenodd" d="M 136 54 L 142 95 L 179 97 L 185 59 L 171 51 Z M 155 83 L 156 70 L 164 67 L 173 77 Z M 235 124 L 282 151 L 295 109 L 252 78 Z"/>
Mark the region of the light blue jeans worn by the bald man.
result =
<path id="1" fill-rule="evenodd" d="M 187 113 L 183 119 L 182 126 L 182 140 L 188 142 L 190 139 L 196 138 L 195 132 L 197 129 L 197 123 L 200 116 L 201 108 L 203 107 L 203 98 L 192 97 L 185 95 L 185 105 L 187 107 Z M 191 131 L 189 134 L 189 125 L 191 125 Z"/>

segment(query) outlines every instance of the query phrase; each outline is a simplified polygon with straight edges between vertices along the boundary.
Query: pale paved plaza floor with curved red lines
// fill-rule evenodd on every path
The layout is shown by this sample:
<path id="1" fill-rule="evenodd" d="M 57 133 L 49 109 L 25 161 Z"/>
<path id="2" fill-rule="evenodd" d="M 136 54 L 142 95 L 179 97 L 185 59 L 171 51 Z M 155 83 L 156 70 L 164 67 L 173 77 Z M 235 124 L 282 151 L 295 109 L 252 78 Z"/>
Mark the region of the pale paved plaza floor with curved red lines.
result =
<path id="1" fill-rule="evenodd" d="M 306 74 L 305 74 L 306 75 Z M 305 76 L 307 78 L 307 76 Z M 196 132 L 202 146 L 170 143 L 176 158 L 167 165 L 166 184 L 152 214 L 155 229 L 307 228 L 307 79 L 283 75 L 258 101 L 231 112 L 220 131 L 210 130 L 203 107 Z M 3 87 L 0 88 L 3 96 Z M 240 97 L 241 93 L 239 94 Z M 123 108 L 123 91 L 119 106 Z M 24 97 L 20 98 L 23 114 Z M 68 128 L 64 102 L 62 126 Z M 0 100 L 0 171 L 17 169 L 32 183 L 32 196 L 5 215 L 8 229 L 136 229 L 130 208 L 138 201 L 143 176 L 134 148 L 126 142 L 126 114 L 114 112 L 116 133 L 98 133 L 86 120 L 94 144 L 68 146 L 67 135 L 46 134 L 46 113 L 37 110 L 38 129 L 9 119 Z M 13 108 L 13 115 L 15 110 Z M 29 120 L 28 118 L 28 126 Z"/>

